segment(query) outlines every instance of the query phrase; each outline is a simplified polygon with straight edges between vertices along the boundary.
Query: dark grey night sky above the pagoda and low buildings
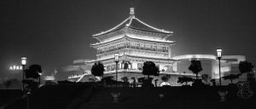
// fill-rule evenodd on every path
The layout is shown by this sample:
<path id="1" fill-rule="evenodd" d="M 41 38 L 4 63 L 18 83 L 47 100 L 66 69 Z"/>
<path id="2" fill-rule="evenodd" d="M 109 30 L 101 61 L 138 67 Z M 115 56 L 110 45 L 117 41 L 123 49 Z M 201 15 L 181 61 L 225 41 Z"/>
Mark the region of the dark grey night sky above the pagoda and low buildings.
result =
<path id="1" fill-rule="evenodd" d="M 255 0 L 1 0 L 0 76 L 23 55 L 47 74 L 73 60 L 95 59 L 91 35 L 125 20 L 131 6 L 143 22 L 174 32 L 173 55 L 221 48 L 256 64 Z"/>

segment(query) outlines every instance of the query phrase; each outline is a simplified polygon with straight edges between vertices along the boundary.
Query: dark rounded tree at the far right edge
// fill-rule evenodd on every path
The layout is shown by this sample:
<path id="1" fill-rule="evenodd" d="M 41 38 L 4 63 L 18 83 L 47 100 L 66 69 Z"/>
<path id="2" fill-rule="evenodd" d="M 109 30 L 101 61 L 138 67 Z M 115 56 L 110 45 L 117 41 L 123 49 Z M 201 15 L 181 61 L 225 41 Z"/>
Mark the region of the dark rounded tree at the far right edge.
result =
<path id="1" fill-rule="evenodd" d="M 241 73 L 247 73 L 247 80 L 249 79 L 249 72 L 253 71 L 253 64 L 247 61 L 240 61 L 239 63 L 239 71 Z"/>

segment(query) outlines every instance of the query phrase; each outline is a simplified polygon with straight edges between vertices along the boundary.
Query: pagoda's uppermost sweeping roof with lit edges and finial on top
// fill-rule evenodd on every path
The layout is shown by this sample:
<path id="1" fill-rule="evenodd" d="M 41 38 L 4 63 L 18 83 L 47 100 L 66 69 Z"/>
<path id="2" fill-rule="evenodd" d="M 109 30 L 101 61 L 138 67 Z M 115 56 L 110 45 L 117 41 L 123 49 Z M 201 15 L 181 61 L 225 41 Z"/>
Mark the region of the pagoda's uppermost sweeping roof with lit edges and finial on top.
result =
<path id="1" fill-rule="evenodd" d="M 120 29 L 123 29 L 125 27 L 140 30 L 140 31 L 146 31 L 146 32 L 157 32 L 157 33 L 170 34 L 170 35 L 173 33 L 173 32 L 163 30 L 163 29 L 155 28 L 154 26 L 149 26 L 148 24 L 144 23 L 142 20 L 137 19 L 134 15 L 134 9 L 131 8 L 129 18 L 122 21 L 118 26 L 114 26 L 113 28 L 111 28 L 108 31 L 100 32 L 100 33 L 94 34 L 92 36 L 93 37 L 102 36 L 102 35 L 108 34 L 110 32 L 119 31 Z"/>

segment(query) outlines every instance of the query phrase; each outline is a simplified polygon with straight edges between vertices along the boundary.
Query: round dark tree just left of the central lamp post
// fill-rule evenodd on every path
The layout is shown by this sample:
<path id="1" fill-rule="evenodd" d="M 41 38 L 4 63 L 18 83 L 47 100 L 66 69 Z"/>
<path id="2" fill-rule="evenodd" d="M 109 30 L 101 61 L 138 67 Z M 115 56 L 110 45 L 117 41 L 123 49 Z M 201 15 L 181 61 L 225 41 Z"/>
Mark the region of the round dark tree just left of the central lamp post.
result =
<path id="1" fill-rule="evenodd" d="M 96 77 L 102 77 L 104 71 L 105 69 L 101 62 L 95 63 L 90 70 L 91 74 Z"/>

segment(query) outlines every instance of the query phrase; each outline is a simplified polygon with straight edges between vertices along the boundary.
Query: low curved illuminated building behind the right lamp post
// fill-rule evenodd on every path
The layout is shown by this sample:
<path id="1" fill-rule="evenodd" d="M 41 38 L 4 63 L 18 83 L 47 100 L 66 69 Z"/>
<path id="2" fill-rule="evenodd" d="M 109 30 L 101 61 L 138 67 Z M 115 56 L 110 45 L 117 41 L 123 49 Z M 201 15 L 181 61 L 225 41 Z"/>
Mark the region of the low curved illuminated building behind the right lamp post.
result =
<path id="1" fill-rule="evenodd" d="M 216 79 L 216 82 L 218 83 L 219 78 L 219 66 L 218 66 L 218 60 L 215 55 L 212 54 L 185 54 L 185 55 L 178 55 L 173 57 L 174 60 L 177 61 L 177 72 L 191 72 L 189 71 L 190 66 L 190 60 L 200 60 L 202 71 L 200 74 L 207 74 L 209 75 L 210 79 Z M 244 61 L 245 56 L 243 55 L 223 55 L 222 59 L 220 60 L 220 72 L 221 77 L 224 77 L 226 75 L 230 74 L 238 74 L 239 72 L 239 62 Z M 234 83 L 237 81 L 246 80 L 246 75 L 241 75 L 240 78 L 235 79 Z M 230 83 L 230 80 L 224 80 L 222 78 L 222 84 L 228 84 Z"/>

